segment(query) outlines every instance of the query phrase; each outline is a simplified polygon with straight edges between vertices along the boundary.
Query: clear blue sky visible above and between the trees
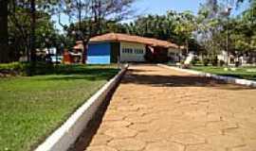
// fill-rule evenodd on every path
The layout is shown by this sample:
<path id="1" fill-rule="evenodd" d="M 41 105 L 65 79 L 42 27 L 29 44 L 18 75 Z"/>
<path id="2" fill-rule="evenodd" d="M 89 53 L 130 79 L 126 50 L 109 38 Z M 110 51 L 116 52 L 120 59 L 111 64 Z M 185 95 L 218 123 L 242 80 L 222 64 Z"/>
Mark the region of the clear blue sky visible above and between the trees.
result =
<path id="1" fill-rule="evenodd" d="M 204 2 L 205 0 L 137 0 L 133 8 L 136 9 L 137 15 L 164 14 L 167 10 L 191 10 L 196 14 L 200 4 Z M 240 9 L 235 10 L 234 14 L 238 14 L 245 8 L 247 8 L 247 4 L 242 5 Z M 53 18 L 53 20 L 56 19 Z M 68 19 L 64 17 L 63 22 L 67 24 Z M 60 25 L 56 24 L 56 26 L 61 29 Z"/>

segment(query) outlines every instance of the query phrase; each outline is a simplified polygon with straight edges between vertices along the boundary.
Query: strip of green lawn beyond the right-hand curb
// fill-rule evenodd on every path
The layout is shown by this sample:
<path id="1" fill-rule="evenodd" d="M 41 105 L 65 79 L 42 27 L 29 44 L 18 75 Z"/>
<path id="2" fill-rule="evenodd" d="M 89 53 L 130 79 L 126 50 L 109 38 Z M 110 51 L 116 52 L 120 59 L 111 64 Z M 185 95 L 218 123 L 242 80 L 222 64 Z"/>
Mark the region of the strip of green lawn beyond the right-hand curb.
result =
<path id="1" fill-rule="evenodd" d="M 232 76 L 256 80 L 256 67 L 239 67 L 236 71 L 225 71 L 224 68 L 225 67 L 193 66 L 192 70 L 215 74 L 219 76 Z"/>

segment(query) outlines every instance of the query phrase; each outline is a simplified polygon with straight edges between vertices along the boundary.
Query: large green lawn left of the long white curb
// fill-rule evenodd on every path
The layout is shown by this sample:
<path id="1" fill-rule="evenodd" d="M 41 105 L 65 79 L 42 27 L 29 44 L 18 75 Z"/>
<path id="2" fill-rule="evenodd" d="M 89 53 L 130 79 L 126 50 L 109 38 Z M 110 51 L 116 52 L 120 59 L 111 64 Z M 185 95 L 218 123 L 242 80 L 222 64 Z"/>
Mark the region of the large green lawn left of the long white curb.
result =
<path id="1" fill-rule="evenodd" d="M 76 65 L 62 66 L 58 75 L 0 78 L 0 151 L 42 143 L 118 71 L 115 65 Z"/>

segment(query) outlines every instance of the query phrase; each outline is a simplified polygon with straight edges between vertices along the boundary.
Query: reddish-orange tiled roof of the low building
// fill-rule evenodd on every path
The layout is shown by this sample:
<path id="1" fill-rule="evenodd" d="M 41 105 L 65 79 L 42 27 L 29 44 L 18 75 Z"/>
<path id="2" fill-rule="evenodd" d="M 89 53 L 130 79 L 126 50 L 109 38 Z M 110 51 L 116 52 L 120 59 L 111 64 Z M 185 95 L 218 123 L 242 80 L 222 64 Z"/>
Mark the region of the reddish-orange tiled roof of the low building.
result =
<path id="1" fill-rule="evenodd" d="M 144 38 L 139 36 L 132 36 L 127 34 L 119 34 L 119 33 L 108 33 L 101 36 L 96 36 L 90 39 L 90 42 L 137 42 L 148 44 L 151 46 L 160 46 L 165 48 L 179 48 L 178 45 L 167 42 L 161 41 L 156 39 Z"/>

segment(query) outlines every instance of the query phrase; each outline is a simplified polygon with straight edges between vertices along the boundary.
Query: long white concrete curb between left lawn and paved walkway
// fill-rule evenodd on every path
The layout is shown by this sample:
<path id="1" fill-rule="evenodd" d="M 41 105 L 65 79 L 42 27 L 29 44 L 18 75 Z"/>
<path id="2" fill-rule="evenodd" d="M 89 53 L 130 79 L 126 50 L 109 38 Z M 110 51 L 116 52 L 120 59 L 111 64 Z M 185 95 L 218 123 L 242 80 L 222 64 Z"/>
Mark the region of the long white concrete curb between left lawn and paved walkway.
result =
<path id="1" fill-rule="evenodd" d="M 118 86 L 121 77 L 125 74 L 128 67 L 129 65 L 126 64 L 117 76 L 113 77 L 100 91 L 96 92 L 82 107 L 77 109 L 64 125 L 55 130 L 35 151 L 65 151 L 69 149 L 79 138 L 88 122 L 93 118 L 108 93 Z"/>

